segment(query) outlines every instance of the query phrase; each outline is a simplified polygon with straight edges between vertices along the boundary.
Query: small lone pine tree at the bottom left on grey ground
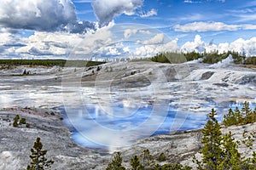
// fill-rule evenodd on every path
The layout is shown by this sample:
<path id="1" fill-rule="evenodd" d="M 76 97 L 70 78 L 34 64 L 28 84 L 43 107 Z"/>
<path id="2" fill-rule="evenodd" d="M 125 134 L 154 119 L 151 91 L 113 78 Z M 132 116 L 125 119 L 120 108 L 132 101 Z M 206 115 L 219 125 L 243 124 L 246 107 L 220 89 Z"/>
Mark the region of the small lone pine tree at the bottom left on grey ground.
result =
<path id="1" fill-rule="evenodd" d="M 31 152 L 29 157 L 32 161 L 30 165 L 26 167 L 26 170 L 44 170 L 50 168 L 54 163 L 54 161 L 47 160 L 45 157 L 47 150 L 43 150 L 43 144 L 40 142 L 40 138 L 36 139 Z"/>

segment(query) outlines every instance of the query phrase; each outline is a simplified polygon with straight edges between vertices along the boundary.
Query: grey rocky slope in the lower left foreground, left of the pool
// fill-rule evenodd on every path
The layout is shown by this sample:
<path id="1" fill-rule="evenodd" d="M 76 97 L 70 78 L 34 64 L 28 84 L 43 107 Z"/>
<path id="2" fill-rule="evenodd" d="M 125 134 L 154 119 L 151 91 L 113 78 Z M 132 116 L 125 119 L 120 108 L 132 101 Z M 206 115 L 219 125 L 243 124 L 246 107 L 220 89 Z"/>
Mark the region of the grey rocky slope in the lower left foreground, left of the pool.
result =
<path id="1" fill-rule="evenodd" d="M 25 117 L 31 127 L 13 127 L 15 115 Z M 30 149 L 41 138 L 48 157 L 55 161 L 53 169 L 83 169 L 93 167 L 98 153 L 74 144 L 70 132 L 61 123 L 58 111 L 11 108 L 0 111 L 0 169 L 25 169 L 30 162 Z"/>

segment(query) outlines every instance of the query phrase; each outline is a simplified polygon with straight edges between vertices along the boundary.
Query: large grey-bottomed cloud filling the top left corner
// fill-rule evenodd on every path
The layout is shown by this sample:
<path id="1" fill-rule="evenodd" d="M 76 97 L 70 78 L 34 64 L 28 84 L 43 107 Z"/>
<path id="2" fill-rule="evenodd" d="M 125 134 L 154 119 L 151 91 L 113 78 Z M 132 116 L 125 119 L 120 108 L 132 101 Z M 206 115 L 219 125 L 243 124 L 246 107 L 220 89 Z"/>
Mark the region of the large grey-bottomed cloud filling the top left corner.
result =
<path id="1" fill-rule="evenodd" d="M 56 31 L 77 20 L 71 0 L 2 0 L 0 26 L 36 31 Z"/>

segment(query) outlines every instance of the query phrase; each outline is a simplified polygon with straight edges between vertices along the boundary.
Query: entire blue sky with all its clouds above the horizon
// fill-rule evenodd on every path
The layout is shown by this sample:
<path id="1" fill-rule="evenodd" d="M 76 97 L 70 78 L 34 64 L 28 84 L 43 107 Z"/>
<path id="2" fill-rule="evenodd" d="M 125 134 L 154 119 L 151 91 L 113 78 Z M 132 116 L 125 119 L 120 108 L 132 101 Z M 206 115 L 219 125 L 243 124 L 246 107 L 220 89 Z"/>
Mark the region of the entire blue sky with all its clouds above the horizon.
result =
<path id="1" fill-rule="evenodd" d="M 256 56 L 256 0 L 1 0 L 0 59 Z"/>

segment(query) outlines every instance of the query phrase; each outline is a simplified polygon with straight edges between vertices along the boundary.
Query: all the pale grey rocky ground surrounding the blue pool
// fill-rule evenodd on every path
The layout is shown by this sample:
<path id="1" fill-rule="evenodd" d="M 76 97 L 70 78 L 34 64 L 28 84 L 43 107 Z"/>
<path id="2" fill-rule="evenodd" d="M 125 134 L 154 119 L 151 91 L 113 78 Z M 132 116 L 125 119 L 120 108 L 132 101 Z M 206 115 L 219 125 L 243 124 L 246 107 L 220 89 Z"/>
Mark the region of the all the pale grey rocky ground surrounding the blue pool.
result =
<path id="1" fill-rule="evenodd" d="M 0 169 L 26 168 L 30 162 L 30 149 L 37 137 L 41 138 L 44 149 L 49 150 L 47 157 L 55 161 L 53 169 L 56 170 L 104 169 L 113 159 L 108 150 L 90 149 L 75 144 L 70 138 L 70 129 L 61 121 L 63 115 L 56 108 L 63 105 L 62 93 L 68 94 L 68 89 L 61 92 L 61 77 L 70 72 L 79 75 L 82 87 L 93 88 L 97 84 L 100 91 L 110 86 L 108 94 L 114 94 L 116 99 L 122 98 L 118 96 L 119 92 L 139 88 L 140 92 L 145 91 L 149 103 L 169 99 L 171 96 L 172 105 L 177 105 L 182 111 L 195 111 L 195 114 L 207 113 L 212 108 L 212 105 L 202 106 L 208 104 L 208 97 L 220 105 L 224 105 L 225 99 L 247 99 L 251 102 L 255 100 L 255 70 L 234 65 L 211 67 L 201 64 L 188 66 L 130 62 L 102 65 L 98 72 L 96 67 L 83 71 L 75 71 L 74 68 L 50 68 L 41 69 L 39 72 L 33 68 L 33 75 L 20 76 L 23 70 L 24 67 L 19 67 L 0 71 Z M 74 81 L 70 78 L 70 82 L 77 81 L 73 78 Z M 146 88 L 152 85 L 158 91 L 151 99 Z M 170 88 L 171 95 L 167 95 L 166 89 Z M 129 97 L 137 99 L 136 94 L 137 91 Z M 90 96 L 90 101 L 106 100 L 103 92 L 96 95 L 96 98 Z M 72 100 L 76 103 L 76 99 Z M 17 114 L 25 117 L 31 127 L 12 127 Z M 224 129 L 224 133 L 230 130 L 237 139 L 241 139 L 243 132 L 255 130 L 255 124 L 230 127 Z M 128 167 L 131 156 L 139 155 L 144 149 L 149 149 L 154 156 L 164 152 L 168 162 L 191 165 L 191 157 L 201 148 L 200 139 L 200 131 L 158 135 L 137 140 L 131 147 L 120 150 L 124 164 Z M 241 147 L 245 156 L 249 156 L 251 151 Z"/>

